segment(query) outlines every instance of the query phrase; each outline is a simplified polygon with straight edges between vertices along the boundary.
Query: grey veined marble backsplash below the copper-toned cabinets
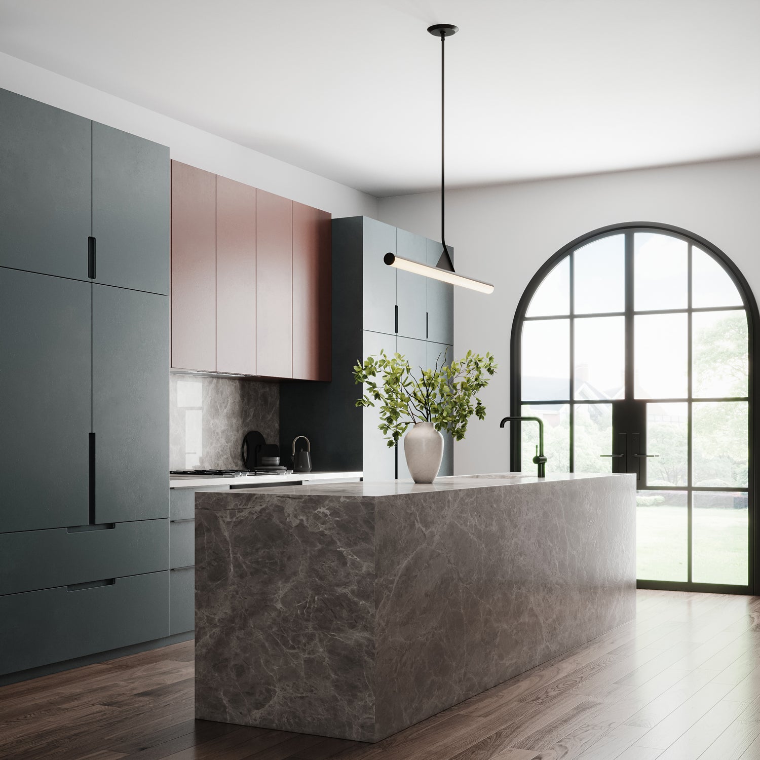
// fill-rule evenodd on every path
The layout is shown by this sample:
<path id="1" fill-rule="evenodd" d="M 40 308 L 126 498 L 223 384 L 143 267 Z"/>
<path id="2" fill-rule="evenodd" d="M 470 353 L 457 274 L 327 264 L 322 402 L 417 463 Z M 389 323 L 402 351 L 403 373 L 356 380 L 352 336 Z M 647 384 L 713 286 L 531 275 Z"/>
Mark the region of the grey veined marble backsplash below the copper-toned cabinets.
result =
<path id="1" fill-rule="evenodd" d="M 249 430 L 280 442 L 280 385 L 249 378 L 169 375 L 169 469 L 242 467 Z"/>

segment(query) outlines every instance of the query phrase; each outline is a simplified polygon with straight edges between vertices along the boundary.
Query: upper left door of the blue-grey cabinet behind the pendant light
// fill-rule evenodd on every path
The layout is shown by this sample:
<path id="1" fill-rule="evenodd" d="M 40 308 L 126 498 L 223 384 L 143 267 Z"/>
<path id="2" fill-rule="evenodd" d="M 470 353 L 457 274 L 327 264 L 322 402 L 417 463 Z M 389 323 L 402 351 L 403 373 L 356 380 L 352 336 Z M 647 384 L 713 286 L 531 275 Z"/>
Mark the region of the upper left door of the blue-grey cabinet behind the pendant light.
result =
<path id="1" fill-rule="evenodd" d="M 365 330 L 396 332 L 396 269 L 383 261 L 386 253 L 396 252 L 396 228 L 364 218 L 363 293 Z"/>

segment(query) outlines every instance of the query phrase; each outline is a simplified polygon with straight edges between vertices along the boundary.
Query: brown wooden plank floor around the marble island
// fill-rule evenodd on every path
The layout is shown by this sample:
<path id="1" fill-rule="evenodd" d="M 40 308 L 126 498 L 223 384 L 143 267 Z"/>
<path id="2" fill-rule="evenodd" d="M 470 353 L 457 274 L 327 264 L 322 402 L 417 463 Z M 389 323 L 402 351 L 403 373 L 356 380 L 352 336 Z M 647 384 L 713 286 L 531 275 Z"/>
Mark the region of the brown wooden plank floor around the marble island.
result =
<path id="1" fill-rule="evenodd" d="M 639 591 L 638 619 L 376 745 L 193 720 L 192 642 L 0 689 L 0 758 L 752 760 L 760 597 Z"/>

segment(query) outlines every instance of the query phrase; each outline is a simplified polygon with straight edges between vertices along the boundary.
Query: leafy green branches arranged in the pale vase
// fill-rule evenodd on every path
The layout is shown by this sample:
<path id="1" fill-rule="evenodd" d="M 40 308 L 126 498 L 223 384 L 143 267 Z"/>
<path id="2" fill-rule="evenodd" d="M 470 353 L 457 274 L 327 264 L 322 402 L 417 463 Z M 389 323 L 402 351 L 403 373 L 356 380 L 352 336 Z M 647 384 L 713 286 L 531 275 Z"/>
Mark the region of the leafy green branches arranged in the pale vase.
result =
<path id="1" fill-rule="evenodd" d="M 415 376 L 400 353 L 388 356 L 381 351 L 379 356 L 368 356 L 353 368 L 356 384 L 366 383 L 366 393 L 356 406 L 374 407 L 378 402 L 378 429 L 388 439 L 388 447 L 397 445 L 407 427 L 421 422 L 432 423 L 439 431 L 447 430 L 461 441 L 473 414 L 479 420 L 485 419 L 486 407 L 476 394 L 488 385 L 497 368 L 490 353 L 480 356 L 467 351 L 464 359 L 452 359 L 448 364 L 443 354 L 434 369 L 420 367 Z"/>

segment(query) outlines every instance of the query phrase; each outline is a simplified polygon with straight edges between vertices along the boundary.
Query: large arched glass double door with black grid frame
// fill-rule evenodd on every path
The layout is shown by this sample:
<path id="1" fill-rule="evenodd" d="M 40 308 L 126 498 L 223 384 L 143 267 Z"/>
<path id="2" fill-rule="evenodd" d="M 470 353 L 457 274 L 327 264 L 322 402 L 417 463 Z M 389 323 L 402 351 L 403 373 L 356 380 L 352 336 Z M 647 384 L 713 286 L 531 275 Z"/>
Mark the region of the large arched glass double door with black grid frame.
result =
<path id="1" fill-rule="evenodd" d="M 549 473 L 635 473 L 639 587 L 760 589 L 757 340 L 757 305 L 733 262 L 662 224 L 565 245 L 518 305 L 511 414 L 544 420 Z M 536 425 L 512 425 L 512 470 L 534 467 L 536 443 Z"/>

